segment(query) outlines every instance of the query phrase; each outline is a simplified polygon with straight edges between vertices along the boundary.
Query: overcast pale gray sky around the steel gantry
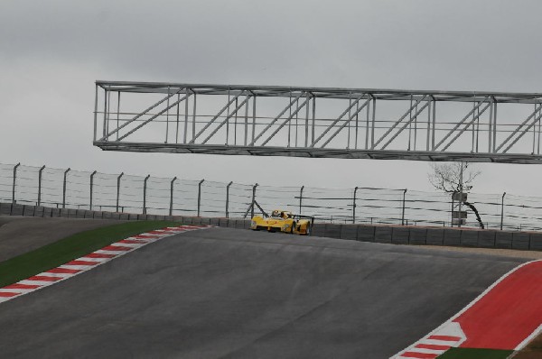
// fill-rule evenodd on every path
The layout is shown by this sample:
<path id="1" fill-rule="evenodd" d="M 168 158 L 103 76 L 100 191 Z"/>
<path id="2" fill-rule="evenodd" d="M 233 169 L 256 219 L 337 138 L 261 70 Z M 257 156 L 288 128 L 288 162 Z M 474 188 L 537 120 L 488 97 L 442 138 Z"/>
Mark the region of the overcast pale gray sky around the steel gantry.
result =
<path id="1" fill-rule="evenodd" d="M 0 162 L 428 190 L 427 162 L 102 152 L 94 81 L 542 92 L 540 14 L 536 0 L 3 0 Z M 476 192 L 542 197 L 538 165 L 478 168 Z"/>

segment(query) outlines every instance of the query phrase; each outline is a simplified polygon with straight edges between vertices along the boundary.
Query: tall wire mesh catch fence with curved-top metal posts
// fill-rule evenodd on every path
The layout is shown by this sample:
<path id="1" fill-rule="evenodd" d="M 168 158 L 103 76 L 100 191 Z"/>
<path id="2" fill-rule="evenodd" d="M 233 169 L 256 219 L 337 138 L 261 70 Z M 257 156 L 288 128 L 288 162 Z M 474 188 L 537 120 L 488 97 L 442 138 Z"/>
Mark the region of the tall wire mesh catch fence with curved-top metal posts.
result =
<path id="1" fill-rule="evenodd" d="M 486 228 L 542 230 L 542 198 L 470 193 Z M 0 164 L 0 201 L 172 216 L 250 217 L 276 208 L 319 222 L 451 226 L 449 194 L 409 189 L 325 189 L 107 174 Z M 255 205 L 253 205 L 255 204 Z M 457 203 L 455 203 L 457 205 Z M 467 210 L 463 206 L 463 210 Z M 476 227 L 468 211 L 466 226 Z"/>

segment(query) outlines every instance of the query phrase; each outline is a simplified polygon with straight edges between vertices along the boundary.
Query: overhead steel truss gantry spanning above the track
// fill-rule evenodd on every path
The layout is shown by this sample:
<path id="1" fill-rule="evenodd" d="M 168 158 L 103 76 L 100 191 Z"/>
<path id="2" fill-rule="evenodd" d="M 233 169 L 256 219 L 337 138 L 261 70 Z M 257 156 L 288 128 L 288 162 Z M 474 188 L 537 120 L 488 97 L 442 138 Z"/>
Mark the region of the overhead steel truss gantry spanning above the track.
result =
<path id="1" fill-rule="evenodd" d="M 97 81 L 94 144 L 107 151 L 540 163 L 541 117 L 537 93 Z"/>

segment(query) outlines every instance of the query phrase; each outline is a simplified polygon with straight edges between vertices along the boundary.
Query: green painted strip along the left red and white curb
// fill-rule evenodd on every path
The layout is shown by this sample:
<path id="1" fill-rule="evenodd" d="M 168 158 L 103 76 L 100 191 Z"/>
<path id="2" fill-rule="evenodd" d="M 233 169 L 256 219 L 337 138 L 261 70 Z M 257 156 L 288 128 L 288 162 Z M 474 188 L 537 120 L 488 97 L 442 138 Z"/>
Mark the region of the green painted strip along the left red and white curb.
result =
<path id="1" fill-rule="evenodd" d="M 181 223 L 172 221 L 137 221 L 104 226 L 70 235 L 32 252 L 0 262 L 0 288 L 17 281 L 23 281 L 51 268 L 56 268 L 126 237 L 167 226 L 181 226 Z"/>

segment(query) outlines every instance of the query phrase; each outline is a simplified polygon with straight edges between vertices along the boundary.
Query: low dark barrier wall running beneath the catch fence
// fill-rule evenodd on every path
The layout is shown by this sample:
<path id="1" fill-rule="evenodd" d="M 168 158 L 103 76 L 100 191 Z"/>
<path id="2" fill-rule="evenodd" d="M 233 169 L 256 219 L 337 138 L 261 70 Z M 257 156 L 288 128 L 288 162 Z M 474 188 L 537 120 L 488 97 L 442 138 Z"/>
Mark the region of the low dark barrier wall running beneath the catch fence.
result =
<path id="1" fill-rule="evenodd" d="M 62 209 L 0 203 L 0 215 L 45 216 L 68 218 L 109 218 L 119 220 L 170 220 L 186 225 L 249 228 L 250 220 L 223 217 L 155 216 L 116 212 L 89 211 L 86 209 Z M 463 247 L 504 248 L 542 251 L 542 233 L 512 232 L 476 228 L 338 225 L 316 223 L 313 236 L 340 238 L 350 241 L 384 244 L 452 245 Z"/>

